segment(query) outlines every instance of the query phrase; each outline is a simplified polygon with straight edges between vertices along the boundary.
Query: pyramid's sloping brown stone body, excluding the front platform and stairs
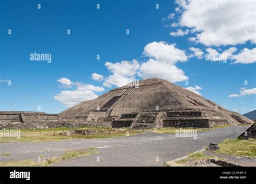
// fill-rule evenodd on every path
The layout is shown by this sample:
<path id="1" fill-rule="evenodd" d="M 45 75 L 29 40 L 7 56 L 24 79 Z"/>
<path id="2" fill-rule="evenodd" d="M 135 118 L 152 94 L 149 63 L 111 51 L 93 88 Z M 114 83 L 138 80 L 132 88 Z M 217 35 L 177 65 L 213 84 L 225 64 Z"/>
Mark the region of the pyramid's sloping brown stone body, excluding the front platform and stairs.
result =
<path id="1" fill-rule="evenodd" d="M 58 116 L 85 118 L 87 121 L 115 121 L 132 117 L 134 113 L 145 112 L 168 112 L 170 117 L 173 113 L 174 116 L 178 113 L 180 118 L 190 116 L 187 114 L 199 113 L 201 117 L 224 119 L 233 125 L 253 123 L 251 119 L 237 112 L 228 111 L 217 103 L 158 78 L 141 80 L 136 85 L 130 83 L 112 89 L 95 100 L 81 102 L 60 112 Z M 190 118 L 194 118 L 193 116 Z"/>

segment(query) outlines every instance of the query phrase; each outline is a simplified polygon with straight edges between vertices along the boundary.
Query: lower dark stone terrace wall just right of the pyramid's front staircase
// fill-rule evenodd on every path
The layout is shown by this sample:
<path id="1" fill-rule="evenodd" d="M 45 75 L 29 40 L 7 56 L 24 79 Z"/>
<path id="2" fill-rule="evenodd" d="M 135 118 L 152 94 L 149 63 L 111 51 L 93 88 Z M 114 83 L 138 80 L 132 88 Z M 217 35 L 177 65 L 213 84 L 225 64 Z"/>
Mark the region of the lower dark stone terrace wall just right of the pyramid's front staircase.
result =
<path id="1" fill-rule="evenodd" d="M 209 128 L 208 119 L 163 119 L 163 128 L 165 127 L 194 127 Z"/>

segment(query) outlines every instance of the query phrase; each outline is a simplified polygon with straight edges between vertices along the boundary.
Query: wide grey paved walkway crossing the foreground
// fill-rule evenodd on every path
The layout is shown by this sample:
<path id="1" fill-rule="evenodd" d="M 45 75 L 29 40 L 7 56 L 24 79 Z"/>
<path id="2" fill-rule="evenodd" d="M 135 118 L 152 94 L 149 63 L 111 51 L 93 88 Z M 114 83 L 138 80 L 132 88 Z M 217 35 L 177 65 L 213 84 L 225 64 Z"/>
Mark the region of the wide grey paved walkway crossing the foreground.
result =
<path id="1" fill-rule="evenodd" d="M 186 154 L 200 150 L 211 142 L 236 138 L 248 126 L 227 126 L 211 131 L 197 132 L 197 139 L 176 137 L 175 134 L 145 132 L 130 137 L 105 139 L 69 139 L 55 142 L 1 143 L 0 162 L 8 160 L 33 159 L 39 155 L 47 158 L 60 157 L 69 150 L 84 150 L 98 147 L 100 153 L 89 157 L 75 158 L 55 163 L 55 166 L 163 166 Z"/>

